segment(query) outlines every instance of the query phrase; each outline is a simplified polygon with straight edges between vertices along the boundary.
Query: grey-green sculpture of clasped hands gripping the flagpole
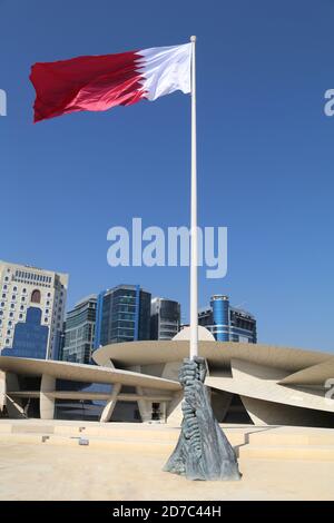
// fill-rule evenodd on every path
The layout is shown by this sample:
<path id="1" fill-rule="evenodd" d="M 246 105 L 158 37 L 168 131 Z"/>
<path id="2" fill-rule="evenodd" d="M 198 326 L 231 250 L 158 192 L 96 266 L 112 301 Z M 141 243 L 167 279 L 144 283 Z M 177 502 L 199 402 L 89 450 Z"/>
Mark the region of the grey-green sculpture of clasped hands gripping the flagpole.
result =
<path id="1" fill-rule="evenodd" d="M 164 471 L 187 480 L 238 481 L 242 474 L 237 458 L 214 416 L 205 376 L 204 358 L 184 359 L 179 373 L 184 420 L 178 443 Z"/>

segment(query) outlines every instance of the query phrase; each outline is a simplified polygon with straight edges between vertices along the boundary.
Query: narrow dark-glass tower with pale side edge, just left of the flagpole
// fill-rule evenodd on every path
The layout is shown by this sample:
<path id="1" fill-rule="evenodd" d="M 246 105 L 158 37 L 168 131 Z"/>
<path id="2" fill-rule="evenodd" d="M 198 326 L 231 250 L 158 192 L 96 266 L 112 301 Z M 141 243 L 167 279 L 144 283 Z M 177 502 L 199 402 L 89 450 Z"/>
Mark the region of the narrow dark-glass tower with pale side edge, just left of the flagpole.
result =
<path id="1" fill-rule="evenodd" d="M 179 332 L 180 305 L 167 298 L 154 298 L 150 304 L 150 339 L 171 339 Z"/>

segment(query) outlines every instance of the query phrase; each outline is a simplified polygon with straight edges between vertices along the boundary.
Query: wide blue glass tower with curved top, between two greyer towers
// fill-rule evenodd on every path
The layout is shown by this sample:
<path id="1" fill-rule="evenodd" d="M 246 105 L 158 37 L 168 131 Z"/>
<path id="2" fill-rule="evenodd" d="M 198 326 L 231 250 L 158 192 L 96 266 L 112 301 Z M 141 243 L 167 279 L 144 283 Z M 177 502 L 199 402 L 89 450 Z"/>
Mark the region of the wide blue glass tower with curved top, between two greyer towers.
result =
<path id="1" fill-rule="evenodd" d="M 150 337 L 150 293 L 139 285 L 118 285 L 98 296 L 95 348 Z"/>

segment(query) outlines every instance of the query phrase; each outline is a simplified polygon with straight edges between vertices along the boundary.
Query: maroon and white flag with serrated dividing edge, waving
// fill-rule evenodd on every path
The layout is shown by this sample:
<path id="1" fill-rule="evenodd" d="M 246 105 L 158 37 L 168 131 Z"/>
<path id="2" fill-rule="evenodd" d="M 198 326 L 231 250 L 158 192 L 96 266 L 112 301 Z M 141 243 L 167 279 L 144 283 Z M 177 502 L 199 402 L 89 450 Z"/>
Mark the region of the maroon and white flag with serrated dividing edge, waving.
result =
<path id="1" fill-rule="evenodd" d="M 35 63 L 35 121 L 190 92 L 191 43 Z"/>

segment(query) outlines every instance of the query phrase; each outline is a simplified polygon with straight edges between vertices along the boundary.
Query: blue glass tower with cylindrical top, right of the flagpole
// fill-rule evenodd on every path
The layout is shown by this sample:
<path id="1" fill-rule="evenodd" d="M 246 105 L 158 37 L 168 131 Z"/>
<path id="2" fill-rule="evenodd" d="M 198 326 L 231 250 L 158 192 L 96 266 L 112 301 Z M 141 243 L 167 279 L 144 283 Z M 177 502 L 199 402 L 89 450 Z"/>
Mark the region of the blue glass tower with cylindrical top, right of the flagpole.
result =
<path id="1" fill-rule="evenodd" d="M 210 307 L 198 313 L 198 325 L 210 330 L 217 342 L 256 343 L 256 319 L 247 310 L 229 305 L 228 296 L 214 295 Z"/>

